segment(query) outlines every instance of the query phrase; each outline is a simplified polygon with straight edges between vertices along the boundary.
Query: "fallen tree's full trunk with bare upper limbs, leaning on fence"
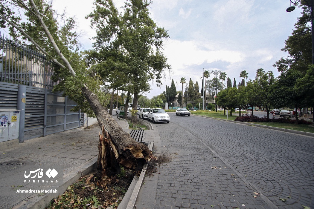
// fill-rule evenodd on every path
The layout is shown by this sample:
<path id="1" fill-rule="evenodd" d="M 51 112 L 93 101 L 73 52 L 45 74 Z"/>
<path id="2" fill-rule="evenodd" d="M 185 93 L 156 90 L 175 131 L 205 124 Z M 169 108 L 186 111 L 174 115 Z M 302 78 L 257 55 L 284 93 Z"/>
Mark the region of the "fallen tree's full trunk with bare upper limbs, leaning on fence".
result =
<path id="1" fill-rule="evenodd" d="M 30 0 L 29 7 L 20 1 L 18 1 L 18 5 L 21 8 L 28 10 L 32 15 L 35 15 L 38 18 L 38 21 L 41 23 L 41 26 L 43 27 L 47 38 L 50 40 L 55 52 L 66 66 L 62 65 L 59 61 L 57 61 L 57 59 L 52 60 L 62 69 L 68 70 L 74 79 L 79 80 L 70 62 L 62 54 L 49 29 L 46 27 L 46 24 L 44 23 L 34 1 Z M 11 24 L 11 26 L 18 29 L 21 34 L 27 37 L 27 39 L 29 39 L 29 41 L 45 55 L 49 56 L 49 54 L 18 25 L 6 18 L 4 14 L 0 14 L 0 16 L 3 20 Z M 140 168 L 144 162 L 150 161 L 151 159 L 157 159 L 146 145 L 136 142 L 130 137 L 129 133 L 122 130 L 111 115 L 109 115 L 106 108 L 99 102 L 99 99 L 94 91 L 91 91 L 86 83 L 81 84 L 80 91 L 86 98 L 92 111 L 95 113 L 99 126 L 102 130 L 102 133 L 99 134 L 98 168 L 102 170 L 104 175 L 114 175 L 119 173 L 120 165 L 130 169 L 137 169 Z"/>

